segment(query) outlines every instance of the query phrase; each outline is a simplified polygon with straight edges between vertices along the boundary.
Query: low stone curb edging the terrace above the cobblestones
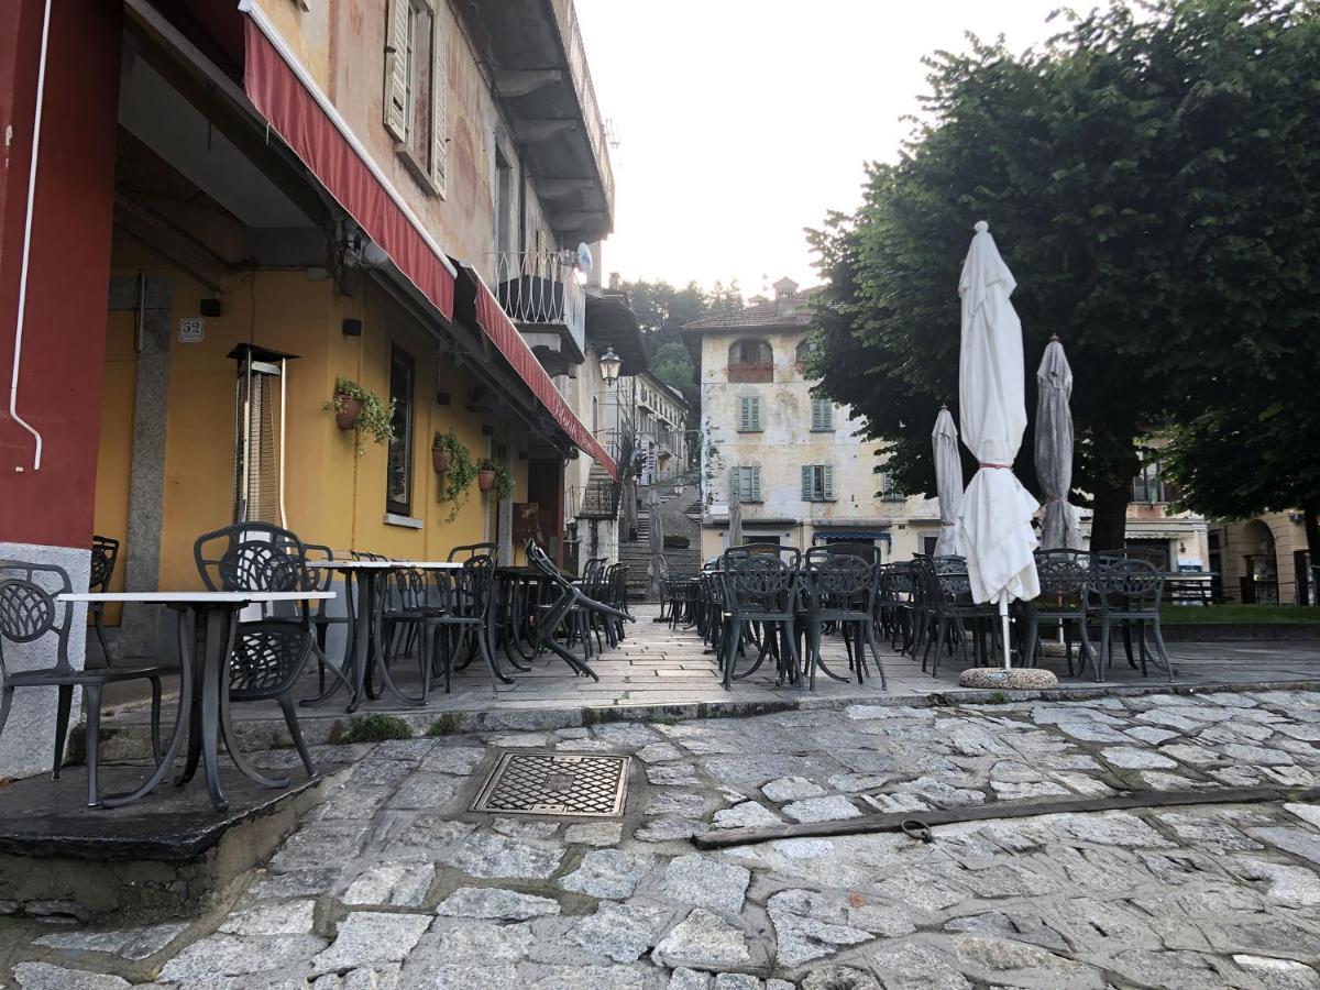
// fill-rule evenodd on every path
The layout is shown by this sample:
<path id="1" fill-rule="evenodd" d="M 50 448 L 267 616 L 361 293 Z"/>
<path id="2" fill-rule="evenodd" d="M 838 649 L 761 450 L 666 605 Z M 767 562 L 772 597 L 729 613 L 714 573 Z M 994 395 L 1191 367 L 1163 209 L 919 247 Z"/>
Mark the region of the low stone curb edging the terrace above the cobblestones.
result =
<path id="1" fill-rule="evenodd" d="M 690 721 L 702 718 L 744 718 L 783 711 L 832 711 L 853 705 L 869 708 L 942 708 L 946 705 L 1007 705 L 1016 701 L 1093 701 L 1096 698 L 1137 698 L 1147 694 L 1214 694 L 1221 692 L 1261 690 L 1320 690 L 1317 681 L 1254 681 L 1250 684 L 1140 684 L 1068 686 L 1053 690 L 987 690 L 985 688 L 953 688 L 923 696 L 882 696 L 866 698 L 822 698 L 805 694 L 768 701 L 709 701 L 682 705 L 609 705 L 602 708 L 535 708 L 507 710 L 451 710 L 451 711 L 359 711 L 358 715 L 388 714 L 408 723 L 413 735 L 428 735 L 437 723 L 442 731 L 436 735 L 495 731 L 544 731 L 552 729 L 578 729 L 602 722 L 655 722 Z M 169 702 L 166 702 L 166 709 Z M 329 742 L 337 725 L 352 715 L 304 718 L 302 735 L 309 746 Z M 238 722 L 235 726 L 244 748 L 264 750 L 288 747 L 288 730 L 282 718 L 261 718 Z M 150 756 L 150 743 L 145 722 L 110 721 L 102 723 L 102 759 L 136 760 Z"/>

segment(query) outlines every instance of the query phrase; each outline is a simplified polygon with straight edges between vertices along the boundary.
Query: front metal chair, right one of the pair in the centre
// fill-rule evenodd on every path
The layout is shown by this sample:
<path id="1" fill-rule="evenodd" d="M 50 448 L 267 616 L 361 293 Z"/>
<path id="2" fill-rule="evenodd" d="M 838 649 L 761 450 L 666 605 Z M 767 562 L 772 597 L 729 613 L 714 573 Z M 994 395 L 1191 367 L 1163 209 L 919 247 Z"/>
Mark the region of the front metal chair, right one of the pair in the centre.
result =
<path id="1" fill-rule="evenodd" d="M 874 549 L 874 548 L 870 548 Z M 875 669 L 880 675 L 880 688 L 887 689 L 884 665 L 875 644 L 875 586 L 876 565 L 861 553 L 837 553 L 826 546 L 813 546 L 807 552 L 803 572 L 803 605 L 805 606 L 809 640 L 809 678 L 816 688 L 816 668 L 836 681 L 846 681 L 830 671 L 821 659 L 821 634 L 826 623 L 834 624 L 847 645 L 849 663 L 857 672 L 857 682 L 866 680 L 866 647 L 871 648 Z M 804 677 L 804 689 L 807 686 Z"/>

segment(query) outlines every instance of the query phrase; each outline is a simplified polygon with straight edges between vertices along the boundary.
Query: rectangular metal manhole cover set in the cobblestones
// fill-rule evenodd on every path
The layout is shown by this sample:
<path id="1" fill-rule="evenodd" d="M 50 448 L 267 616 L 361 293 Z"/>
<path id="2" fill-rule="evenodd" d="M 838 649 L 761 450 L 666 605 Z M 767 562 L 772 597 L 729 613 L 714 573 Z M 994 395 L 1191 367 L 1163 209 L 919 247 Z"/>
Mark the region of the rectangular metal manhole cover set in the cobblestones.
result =
<path id="1" fill-rule="evenodd" d="M 506 752 L 482 785 L 474 812 L 623 814 L 631 756 L 573 752 Z"/>

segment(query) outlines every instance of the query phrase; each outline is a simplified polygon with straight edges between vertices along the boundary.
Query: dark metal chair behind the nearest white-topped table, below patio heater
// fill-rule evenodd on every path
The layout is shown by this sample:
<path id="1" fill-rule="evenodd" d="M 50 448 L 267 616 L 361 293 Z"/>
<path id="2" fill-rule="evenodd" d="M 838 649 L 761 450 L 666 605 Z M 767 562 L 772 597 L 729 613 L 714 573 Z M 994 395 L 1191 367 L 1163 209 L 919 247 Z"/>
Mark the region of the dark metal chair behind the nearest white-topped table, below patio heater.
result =
<path id="1" fill-rule="evenodd" d="M 304 562 L 306 549 L 296 533 L 269 523 L 235 523 L 197 537 L 193 558 L 202 582 L 210 591 L 306 591 Z M 313 652 L 312 610 L 301 607 L 293 616 L 273 616 L 239 622 L 230 653 L 230 701 L 275 700 L 284 713 L 289 737 L 302 759 L 308 776 L 315 764 L 302 741 L 293 706 L 293 686 Z M 211 713 L 199 713 L 213 717 Z M 201 722 L 198 722 L 201 723 Z M 235 746 L 228 726 L 226 744 Z M 197 734 L 194 741 L 199 742 Z M 183 779 L 197 771 L 199 750 L 190 748 Z"/>

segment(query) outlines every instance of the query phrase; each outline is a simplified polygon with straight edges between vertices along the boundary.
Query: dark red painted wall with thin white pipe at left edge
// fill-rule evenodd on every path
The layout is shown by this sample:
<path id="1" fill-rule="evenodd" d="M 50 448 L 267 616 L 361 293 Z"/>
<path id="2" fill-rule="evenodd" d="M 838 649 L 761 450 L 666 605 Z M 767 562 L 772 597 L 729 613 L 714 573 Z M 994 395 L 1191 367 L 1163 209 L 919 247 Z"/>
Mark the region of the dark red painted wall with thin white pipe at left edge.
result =
<path id="1" fill-rule="evenodd" d="M 123 8 L 54 0 L 28 267 L 18 414 L 9 418 L 42 0 L 0 4 L 0 541 L 91 543 L 100 433 Z M 16 471 L 22 467 L 22 471 Z"/>

